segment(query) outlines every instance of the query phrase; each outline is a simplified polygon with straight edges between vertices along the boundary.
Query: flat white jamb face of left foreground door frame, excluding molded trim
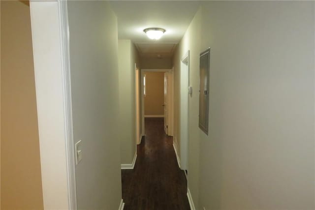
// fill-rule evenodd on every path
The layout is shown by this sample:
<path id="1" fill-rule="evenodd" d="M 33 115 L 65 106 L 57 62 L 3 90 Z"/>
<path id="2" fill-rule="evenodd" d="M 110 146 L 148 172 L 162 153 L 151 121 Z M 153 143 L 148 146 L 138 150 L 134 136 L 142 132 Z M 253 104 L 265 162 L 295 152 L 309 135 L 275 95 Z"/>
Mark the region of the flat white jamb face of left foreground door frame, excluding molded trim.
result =
<path id="1" fill-rule="evenodd" d="M 44 209 L 69 209 L 59 4 L 31 1 Z"/>

